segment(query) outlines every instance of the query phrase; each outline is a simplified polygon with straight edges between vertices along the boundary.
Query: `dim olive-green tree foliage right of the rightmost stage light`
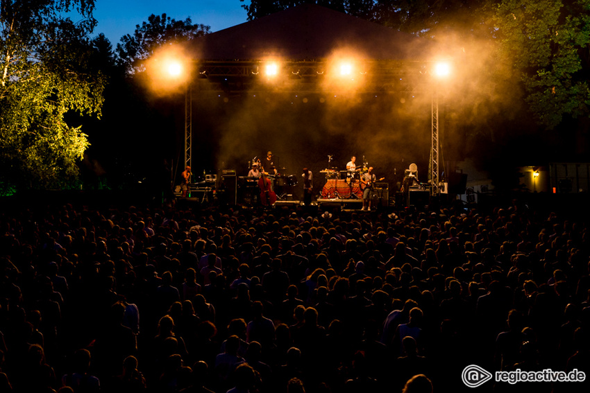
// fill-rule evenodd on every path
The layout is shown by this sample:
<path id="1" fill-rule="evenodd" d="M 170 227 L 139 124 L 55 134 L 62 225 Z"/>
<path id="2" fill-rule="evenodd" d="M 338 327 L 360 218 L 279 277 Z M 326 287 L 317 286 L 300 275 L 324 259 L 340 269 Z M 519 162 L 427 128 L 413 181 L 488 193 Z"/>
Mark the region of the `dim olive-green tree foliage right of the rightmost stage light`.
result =
<path id="1" fill-rule="evenodd" d="M 500 59 L 519 73 L 540 123 L 587 115 L 590 1 L 503 0 L 494 21 Z"/>

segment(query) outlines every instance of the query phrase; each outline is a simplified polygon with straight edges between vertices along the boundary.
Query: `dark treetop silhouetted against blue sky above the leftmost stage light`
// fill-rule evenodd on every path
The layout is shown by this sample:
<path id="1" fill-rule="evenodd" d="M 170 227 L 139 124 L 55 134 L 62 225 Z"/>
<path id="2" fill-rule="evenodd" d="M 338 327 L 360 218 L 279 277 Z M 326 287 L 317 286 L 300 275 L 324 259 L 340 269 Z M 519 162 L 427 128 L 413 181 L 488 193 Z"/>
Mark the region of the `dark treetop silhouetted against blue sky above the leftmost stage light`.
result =
<path id="1" fill-rule="evenodd" d="M 194 37 L 201 37 L 209 33 L 210 26 L 204 24 L 192 24 L 188 17 L 183 21 L 177 21 L 167 17 L 166 14 L 150 15 L 148 21 L 142 25 L 135 25 L 133 35 L 126 34 L 117 44 L 119 63 L 129 73 L 142 71 L 142 60 L 149 58 L 153 50 L 158 46 L 171 42 L 183 42 Z"/>

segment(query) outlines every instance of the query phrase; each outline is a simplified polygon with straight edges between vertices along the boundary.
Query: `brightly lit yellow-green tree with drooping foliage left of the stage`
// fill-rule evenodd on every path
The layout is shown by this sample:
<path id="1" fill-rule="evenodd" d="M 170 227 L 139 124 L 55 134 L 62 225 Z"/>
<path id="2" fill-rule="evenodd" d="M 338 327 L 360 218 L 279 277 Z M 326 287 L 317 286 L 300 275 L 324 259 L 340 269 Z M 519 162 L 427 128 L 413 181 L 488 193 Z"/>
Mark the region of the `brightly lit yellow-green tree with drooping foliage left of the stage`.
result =
<path id="1" fill-rule="evenodd" d="M 99 115 L 103 101 L 104 80 L 88 67 L 94 1 L 0 6 L 0 186 L 55 186 L 76 176 L 88 146 L 67 115 Z"/>

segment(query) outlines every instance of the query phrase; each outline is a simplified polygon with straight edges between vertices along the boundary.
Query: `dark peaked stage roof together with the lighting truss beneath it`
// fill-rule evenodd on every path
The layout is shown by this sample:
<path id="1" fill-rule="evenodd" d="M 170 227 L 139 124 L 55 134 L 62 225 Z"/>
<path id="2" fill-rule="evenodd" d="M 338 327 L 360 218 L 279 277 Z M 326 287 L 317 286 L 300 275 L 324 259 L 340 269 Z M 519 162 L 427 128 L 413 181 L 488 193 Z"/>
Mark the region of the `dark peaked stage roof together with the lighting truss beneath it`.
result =
<path id="1" fill-rule="evenodd" d="M 382 84 L 401 74 L 420 78 L 428 73 L 428 62 L 440 57 L 431 40 L 315 4 L 199 37 L 188 51 L 198 64 L 197 75 L 212 81 L 260 77 L 262 64 L 270 60 L 282 62 L 289 78 L 309 81 L 329 74 L 335 58 L 352 58 L 362 62 L 357 71 Z"/>

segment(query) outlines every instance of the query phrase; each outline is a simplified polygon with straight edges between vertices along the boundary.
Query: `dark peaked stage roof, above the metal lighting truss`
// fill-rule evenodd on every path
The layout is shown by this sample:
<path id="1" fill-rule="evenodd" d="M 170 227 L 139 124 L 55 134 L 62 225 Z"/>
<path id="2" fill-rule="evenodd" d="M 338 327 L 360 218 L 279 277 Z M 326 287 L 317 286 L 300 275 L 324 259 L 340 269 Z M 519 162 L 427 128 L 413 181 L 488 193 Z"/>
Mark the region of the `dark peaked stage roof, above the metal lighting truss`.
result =
<path id="1" fill-rule="evenodd" d="M 195 58 L 322 60 L 339 49 L 368 60 L 428 60 L 432 42 L 315 4 L 303 4 L 192 41 Z"/>

